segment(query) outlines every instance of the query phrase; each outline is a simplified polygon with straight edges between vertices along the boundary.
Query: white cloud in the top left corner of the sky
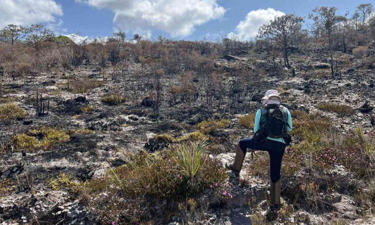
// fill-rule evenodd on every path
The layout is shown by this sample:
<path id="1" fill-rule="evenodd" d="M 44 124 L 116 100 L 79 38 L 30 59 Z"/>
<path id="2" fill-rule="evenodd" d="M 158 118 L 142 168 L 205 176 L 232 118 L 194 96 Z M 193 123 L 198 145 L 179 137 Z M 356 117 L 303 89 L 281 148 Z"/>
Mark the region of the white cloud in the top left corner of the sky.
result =
<path id="1" fill-rule="evenodd" d="M 0 28 L 8 24 L 30 25 L 55 22 L 62 6 L 54 0 L 0 0 Z"/>

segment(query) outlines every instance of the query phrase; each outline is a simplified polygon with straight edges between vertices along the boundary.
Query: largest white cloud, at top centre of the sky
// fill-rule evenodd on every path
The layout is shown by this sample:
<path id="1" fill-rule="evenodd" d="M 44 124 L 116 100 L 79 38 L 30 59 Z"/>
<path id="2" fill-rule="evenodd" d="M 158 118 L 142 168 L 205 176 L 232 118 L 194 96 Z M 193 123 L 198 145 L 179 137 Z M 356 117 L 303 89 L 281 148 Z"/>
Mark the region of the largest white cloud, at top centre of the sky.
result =
<path id="1" fill-rule="evenodd" d="M 225 9 L 216 0 L 77 0 L 115 13 L 118 27 L 149 32 L 156 28 L 172 36 L 192 34 L 195 26 L 222 18 Z"/>

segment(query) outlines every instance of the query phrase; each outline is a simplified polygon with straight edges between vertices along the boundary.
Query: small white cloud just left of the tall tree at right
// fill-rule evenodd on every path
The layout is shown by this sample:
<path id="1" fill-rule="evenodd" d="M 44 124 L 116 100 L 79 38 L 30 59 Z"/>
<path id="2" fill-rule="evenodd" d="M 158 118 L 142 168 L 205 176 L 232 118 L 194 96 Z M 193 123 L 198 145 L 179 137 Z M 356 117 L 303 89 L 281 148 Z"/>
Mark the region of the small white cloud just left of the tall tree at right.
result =
<path id="1" fill-rule="evenodd" d="M 251 39 L 258 34 L 260 26 L 282 15 L 285 15 L 285 13 L 272 8 L 252 10 L 246 15 L 245 20 L 240 21 L 236 30 L 230 33 L 228 37 L 233 37 L 233 35 L 237 34 L 239 37 L 245 35 L 246 39 Z"/>

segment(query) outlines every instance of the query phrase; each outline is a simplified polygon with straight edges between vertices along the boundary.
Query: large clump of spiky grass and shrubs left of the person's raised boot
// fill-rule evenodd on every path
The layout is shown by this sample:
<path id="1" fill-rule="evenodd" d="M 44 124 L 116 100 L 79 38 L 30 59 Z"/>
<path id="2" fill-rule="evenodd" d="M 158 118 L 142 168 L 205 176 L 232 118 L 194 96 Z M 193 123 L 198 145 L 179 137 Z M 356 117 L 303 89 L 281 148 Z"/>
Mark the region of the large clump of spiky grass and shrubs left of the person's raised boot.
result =
<path id="1" fill-rule="evenodd" d="M 187 142 L 153 154 L 141 152 L 131 163 L 84 183 L 80 194 L 104 224 L 146 222 L 152 214 L 169 219 L 168 210 L 176 209 L 173 202 L 198 195 L 227 177 L 206 148 L 205 142 Z M 170 205 L 154 207 L 165 199 Z M 142 211 L 144 207 L 148 210 Z"/>

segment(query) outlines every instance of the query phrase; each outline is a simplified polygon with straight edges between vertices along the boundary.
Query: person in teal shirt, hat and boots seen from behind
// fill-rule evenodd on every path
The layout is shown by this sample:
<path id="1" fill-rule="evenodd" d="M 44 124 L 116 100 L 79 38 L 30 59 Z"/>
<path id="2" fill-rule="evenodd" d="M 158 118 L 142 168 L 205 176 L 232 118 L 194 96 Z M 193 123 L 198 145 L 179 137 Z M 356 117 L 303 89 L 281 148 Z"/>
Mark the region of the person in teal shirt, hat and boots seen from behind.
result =
<path id="1" fill-rule="evenodd" d="M 268 90 L 261 101 L 263 107 L 255 115 L 254 136 L 240 139 L 234 162 L 226 163 L 225 166 L 238 176 L 248 148 L 252 151 L 268 151 L 271 178 L 269 211 L 274 211 L 281 207 L 281 161 L 285 147 L 291 142 L 288 132 L 293 125 L 288 108 L 281 105 L 282 99 L 278 91 Z M 281 119 L 278 119 L 280 117 Z"/>

